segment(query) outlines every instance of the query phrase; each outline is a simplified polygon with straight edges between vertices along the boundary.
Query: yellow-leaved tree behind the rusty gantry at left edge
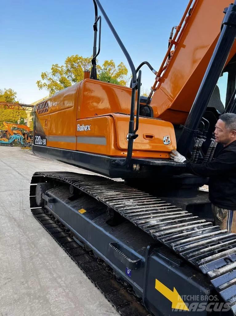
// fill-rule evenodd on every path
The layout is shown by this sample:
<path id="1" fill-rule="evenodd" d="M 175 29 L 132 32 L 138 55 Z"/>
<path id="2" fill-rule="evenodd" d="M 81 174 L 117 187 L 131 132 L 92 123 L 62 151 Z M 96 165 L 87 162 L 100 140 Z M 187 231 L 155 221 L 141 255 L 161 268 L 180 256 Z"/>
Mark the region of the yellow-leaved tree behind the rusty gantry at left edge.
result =
<path id="1" fill-rule="evenodd" d="M 10 88 L 0 89 L 0 101 L 9 103 L 19 103 L 18 101 L 16 101 L 16 92 Z M 23 121 L 26 118 L 26 111 L 0 109 L 0 130 L 5 130 L 5 126 L 3 125 L 4 121 L 17 123 L 19 119 Z"/>

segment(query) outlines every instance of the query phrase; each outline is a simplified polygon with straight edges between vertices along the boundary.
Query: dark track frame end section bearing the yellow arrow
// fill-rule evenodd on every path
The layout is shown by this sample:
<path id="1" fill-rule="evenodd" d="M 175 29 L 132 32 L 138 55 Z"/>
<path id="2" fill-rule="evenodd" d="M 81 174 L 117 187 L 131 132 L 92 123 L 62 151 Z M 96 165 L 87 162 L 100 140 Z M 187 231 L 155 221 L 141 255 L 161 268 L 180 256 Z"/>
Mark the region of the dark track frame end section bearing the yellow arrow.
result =
<path id="1" fill-rule="evenodd" d="M 177 257 L 154 251 L 146 262 L 145 277 L 144 302 L 154 314 L 208 314 L 206 306 L 211 289 L 207 278 L 197 271 L 193 274 L 191 268 Z"/>

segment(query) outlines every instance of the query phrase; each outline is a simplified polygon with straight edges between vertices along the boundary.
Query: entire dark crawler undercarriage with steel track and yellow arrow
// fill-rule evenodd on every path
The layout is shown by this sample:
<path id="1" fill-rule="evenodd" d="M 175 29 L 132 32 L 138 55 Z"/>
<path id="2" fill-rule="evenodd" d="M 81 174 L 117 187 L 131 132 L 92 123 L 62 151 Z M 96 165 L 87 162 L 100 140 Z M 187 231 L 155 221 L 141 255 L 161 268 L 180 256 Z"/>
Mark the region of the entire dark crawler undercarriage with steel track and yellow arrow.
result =
<path id="1" fill-rule="evenodd" d="M 224 315 L 236 313 L 235 234 L 123 181 L 96 175 L 37 172 L 30 204 L 122 315 L 196 314 L 189 294 L 206 305 L 215 297 L 229 303 Z"/>

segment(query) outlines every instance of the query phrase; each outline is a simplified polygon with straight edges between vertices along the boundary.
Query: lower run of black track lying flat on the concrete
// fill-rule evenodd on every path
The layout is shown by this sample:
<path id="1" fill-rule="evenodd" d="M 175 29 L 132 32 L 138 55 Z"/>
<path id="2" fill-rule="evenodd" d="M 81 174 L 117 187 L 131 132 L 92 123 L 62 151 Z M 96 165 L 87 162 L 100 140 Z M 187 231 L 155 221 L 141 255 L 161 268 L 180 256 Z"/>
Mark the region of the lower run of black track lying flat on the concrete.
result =
<path id="1" fill-rule="evenodd" d="M 122 316 L 152 316 L 135 296 L 132 288 L 118 280 L 112 270 L 92 251 L 87 251 L 72 238 L 65 226 L 40 208 L 31 209 L 33 216 L 54 238 L 78 267 L 100 289 L 106 299 Z"/>

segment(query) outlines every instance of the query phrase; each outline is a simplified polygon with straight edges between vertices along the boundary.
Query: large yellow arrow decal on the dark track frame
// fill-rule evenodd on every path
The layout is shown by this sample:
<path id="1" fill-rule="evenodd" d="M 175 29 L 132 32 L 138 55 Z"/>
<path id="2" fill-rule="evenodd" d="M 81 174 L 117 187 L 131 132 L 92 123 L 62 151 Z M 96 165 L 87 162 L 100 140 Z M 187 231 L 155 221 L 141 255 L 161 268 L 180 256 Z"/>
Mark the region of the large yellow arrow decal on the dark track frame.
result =
<path id="1" fill-rule="evenodd" d="M 181 299 L 181 296 L 174 288 L 173 291 L 168 289 L 163 283 L 156 279 L 155 289 L 158 290 L 162 295 L 164 295 L 169 301 L 172 303 L 173 309 L 182 309 L 184 311 L 188 311 L 185 302 Z"/>

